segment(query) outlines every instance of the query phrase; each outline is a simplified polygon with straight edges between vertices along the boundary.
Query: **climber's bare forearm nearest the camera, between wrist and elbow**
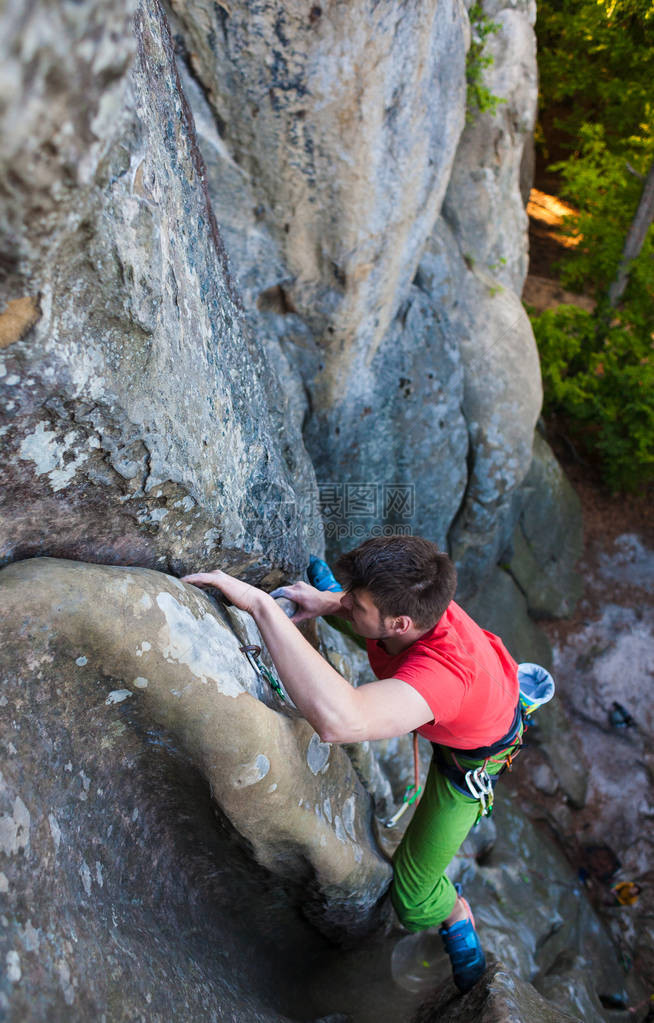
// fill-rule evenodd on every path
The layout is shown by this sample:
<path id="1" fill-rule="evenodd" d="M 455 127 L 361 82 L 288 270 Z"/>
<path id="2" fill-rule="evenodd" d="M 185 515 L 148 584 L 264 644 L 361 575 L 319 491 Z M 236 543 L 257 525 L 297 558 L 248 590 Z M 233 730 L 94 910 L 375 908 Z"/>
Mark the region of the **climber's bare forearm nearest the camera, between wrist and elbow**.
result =
<path id="1" fill-rule="evenodd" d="M 359 731 L 363 722 L 356 691 L 307 642 L 274 599 L 259 592 L 251 613 L 287 692 L 320 738 L 339 741 L 336 737 L 342 733 Z"/>

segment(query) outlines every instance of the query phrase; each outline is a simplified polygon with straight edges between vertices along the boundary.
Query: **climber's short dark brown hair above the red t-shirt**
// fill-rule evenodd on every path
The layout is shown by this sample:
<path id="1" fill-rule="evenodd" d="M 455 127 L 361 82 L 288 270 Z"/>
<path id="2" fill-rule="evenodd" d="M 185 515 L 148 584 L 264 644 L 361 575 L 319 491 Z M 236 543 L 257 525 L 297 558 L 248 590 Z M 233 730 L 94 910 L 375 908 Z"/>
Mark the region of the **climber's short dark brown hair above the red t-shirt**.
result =
<path id="1" fill-rule="evenodd" d="M 456 590 L 456 569 L 431 540 L 372 537 L 341 554 L 336 575 L 345 589 L 366 589 L 382 618 L 408 615 L 432 628 Z"/>

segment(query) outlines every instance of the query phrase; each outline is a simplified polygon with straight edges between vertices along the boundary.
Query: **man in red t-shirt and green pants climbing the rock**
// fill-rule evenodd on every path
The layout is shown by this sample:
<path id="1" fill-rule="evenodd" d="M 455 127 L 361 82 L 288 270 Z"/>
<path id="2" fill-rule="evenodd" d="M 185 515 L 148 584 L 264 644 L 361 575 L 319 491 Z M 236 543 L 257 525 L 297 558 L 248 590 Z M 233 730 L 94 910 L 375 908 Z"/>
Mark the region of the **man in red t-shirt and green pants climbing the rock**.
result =
<path id="1" fill-rule="evenodd" d="M 429 540 L 366 540 L 340 558 L 336 573 L 341 591 L 304 582 L 284 588 L 298 605 L 292 620 L 270 594 L 224 572 L 184 581 L 217 587 L 255 618 L 281 681 L 323 742 L 416 729 L 433 744 L 424 794 L 394 856 L 391 899 L 407 930 L 439 927 L 466 991 L 485 960 L 470 906 L 445 869 L 480 812 L 466 775 L 491 793 L 488 777 L 520 745 L 518 665 L 454 603 L 454 566 Z M 293 624 L 319 615 L 351 623 L 378 681 L 353 688 Z M 482 806 L 492 798 L 480 795 Z"/>

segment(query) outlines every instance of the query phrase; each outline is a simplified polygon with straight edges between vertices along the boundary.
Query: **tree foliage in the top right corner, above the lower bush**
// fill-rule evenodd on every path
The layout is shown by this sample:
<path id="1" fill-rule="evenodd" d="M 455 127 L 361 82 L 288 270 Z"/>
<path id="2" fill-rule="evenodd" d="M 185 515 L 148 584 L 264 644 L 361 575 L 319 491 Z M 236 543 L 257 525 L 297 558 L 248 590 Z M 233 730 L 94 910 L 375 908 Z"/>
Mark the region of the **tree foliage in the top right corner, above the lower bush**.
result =
<path id="1" fill-rule="evenodd" d="M 541 0 L 536 31 L 539 136 L 546 151 L 556 140 L 570 152 L 550 170 L 578 211 L 566 229 L 582 236 L 558 270 L 566 286 L 602 304 L 654 160 L 654 0 Z M 651 235 L 637 263 L 631 306 L 654 294 Z"/>

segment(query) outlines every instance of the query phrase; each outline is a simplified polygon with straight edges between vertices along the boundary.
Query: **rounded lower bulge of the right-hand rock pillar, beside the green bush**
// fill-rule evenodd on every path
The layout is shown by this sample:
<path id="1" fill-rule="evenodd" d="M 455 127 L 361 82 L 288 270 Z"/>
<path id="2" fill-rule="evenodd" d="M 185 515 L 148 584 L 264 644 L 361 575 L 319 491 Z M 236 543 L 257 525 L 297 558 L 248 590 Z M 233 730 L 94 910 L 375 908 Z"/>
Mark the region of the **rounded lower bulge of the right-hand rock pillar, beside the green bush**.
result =
<path id="1" fill-rule="evenodd" d="M 464 370 L 469 434 L 465 498 L 449 531 L 467 599 L 492 571 L 513 530 L 512 496 L 529 470 L 541 401 L 538 357 L 515 292 L 466 257 L 439 221 L 417 282 L 451 317 Z"/>

